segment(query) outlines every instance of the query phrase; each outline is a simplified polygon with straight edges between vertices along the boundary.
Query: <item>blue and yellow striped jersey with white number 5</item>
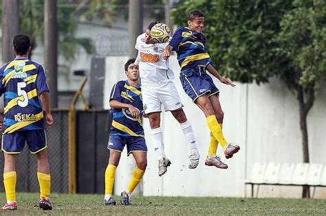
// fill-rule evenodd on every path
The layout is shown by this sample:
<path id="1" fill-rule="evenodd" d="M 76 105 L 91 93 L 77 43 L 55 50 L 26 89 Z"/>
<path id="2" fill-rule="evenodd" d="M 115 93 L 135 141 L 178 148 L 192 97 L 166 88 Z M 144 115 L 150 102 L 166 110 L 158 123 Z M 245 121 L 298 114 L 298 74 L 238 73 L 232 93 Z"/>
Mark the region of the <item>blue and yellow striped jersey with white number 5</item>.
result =
<path id="1" fill-rule="evenodd" d="M 50 91 L 41 64 L 15 58 L 0 69 L 0 95 L 4 94 L 3 134 L 42 130 L 43 110 L 39 94 Z"/>

